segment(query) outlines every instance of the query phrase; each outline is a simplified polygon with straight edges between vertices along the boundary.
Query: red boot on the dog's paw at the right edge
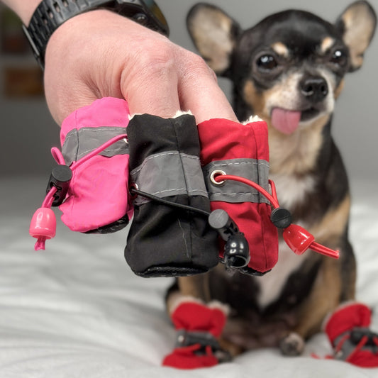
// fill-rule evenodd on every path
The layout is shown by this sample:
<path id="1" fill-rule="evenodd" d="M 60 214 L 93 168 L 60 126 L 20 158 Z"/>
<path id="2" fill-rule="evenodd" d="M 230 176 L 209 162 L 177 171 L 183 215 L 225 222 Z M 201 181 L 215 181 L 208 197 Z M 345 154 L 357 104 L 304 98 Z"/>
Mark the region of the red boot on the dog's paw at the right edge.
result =
<path id="1" fill-rule="evenodd" d="M 369 330 L 372 311 L 365 304 L 341 306 L 326 322 L 325 331 L 335 360 L 360 367 L 378 367 L 378 335 Z"/>

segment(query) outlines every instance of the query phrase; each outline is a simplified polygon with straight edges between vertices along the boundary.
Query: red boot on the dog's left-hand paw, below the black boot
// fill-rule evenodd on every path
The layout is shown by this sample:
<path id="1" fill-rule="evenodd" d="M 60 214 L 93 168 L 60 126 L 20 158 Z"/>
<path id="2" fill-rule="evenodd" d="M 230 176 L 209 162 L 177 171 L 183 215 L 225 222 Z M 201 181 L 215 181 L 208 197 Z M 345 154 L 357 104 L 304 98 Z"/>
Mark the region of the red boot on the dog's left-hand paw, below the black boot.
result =
<path id="1" fill-rule="evenodd" d="M 177 344 L 162 365 L 177 369 L 196 369 L 230 360 L 217 340 L 226 323 L 224 308 L 185 301 L 174 309 L 171 316 L 178 331 Z"/>

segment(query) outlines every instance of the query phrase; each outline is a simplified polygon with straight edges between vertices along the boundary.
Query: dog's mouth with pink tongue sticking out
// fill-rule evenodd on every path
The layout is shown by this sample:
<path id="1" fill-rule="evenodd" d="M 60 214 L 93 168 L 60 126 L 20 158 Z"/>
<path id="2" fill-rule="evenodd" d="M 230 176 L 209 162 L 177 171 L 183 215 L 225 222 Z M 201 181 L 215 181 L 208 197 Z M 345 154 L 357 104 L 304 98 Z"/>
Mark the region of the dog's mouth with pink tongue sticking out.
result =
<path id="1" fill-rule="evenodd" d="M 292 134 L 299 128 L 300 122 L 310 121 L 321 113 L 318 109 L 309 108 L 303 111 L 292 111 L 273 108 L 271 113 L 272 126 L 284 134 Z"/>

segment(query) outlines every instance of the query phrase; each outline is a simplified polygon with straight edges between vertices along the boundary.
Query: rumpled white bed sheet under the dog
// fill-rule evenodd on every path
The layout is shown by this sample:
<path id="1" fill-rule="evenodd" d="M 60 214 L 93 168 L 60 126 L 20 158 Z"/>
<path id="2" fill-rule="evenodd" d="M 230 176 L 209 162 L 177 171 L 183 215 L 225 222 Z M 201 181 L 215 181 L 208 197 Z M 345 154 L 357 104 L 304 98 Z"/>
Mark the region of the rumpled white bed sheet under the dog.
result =
<path id="1" fill-rule="evenodd" d="M 311 357 L 330 352 L 323 334 L 308 342 L 302 357 L 265 349 L 210 369 L 160 367 L 174 343 L 164 308 L 171 279 L 130 271 L 125 230 L 82 235 L 58 221 L 47 250 L 34 252 L 28 226 L 44 188 L 45 179 L 1 179 L 0 378 L 378 377 L 378 369 Z M 352 189 L 358 299 L 377 308 L 377 182 L 353 182 Z M 377 313 L 373 327 L 378 330 Z"/>

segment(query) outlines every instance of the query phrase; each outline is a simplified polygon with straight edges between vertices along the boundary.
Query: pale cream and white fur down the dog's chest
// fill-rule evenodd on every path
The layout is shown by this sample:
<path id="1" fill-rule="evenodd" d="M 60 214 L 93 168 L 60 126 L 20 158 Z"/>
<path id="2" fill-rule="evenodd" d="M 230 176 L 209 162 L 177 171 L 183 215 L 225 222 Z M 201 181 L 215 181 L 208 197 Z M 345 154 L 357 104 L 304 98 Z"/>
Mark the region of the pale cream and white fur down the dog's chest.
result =
<path id="1" fill-rule="evenodd" d="M 305 143 L 303 143 L 304 138 L 306 138 Z M 274 157 L 273 164 L 275 165 L 272 167 L 273 173 L 270 174 L 270 179 L 277 188 L 281 207 L 293 211 L 304 206 L 306 198 L 315 190 L 316 178 L 308 171 L 308 167 L 315 165 L 316 152 L 320 144 L 321 132 L 313 131 L 313 129 L 311 133 L 308 130 L 301 130 L 298 135 L 291 135 L 290 138 L 284 140 L 270 139 L 271 156 Z M 301 219 L 295 218 L 294 221 L 301 226 L 308 226 Z M 284 240 L 280 239 L 279 260 L 272 274 L 256 278 L 259 287 L 257 304 L 261 309 L 279 299 L 282 288 L 291 274 L 303 264 L 304 258 L 306 257 L 295 255 Z"/>

